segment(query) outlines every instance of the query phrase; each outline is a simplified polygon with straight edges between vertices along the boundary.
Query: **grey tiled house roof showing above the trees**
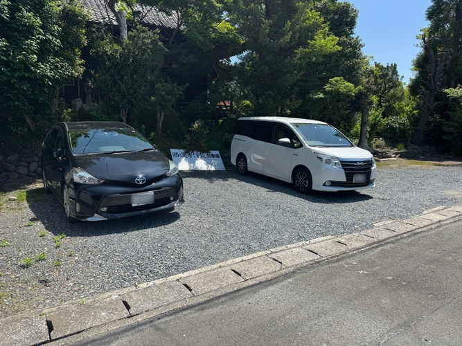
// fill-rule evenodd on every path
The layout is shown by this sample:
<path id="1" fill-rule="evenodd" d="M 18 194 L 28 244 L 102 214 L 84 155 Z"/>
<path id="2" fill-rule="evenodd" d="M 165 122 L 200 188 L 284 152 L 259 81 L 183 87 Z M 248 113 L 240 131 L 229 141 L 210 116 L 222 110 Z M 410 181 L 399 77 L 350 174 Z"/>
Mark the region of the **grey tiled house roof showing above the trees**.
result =
<path id="1" fill-rule="evenodd" d="M 104 0 L 80 0 L 83 7 L 90 12 L 91 21 L 96 24 L 117 25 L 116 17 Z M 176 28 L 177 14 L 172 12 L 171 15 L 161 12 L 157 8 L 150 9 L 148 6 L 136 4 L 135 10 L 146 13 L 141 24 L 150 26 L 159 26 L 160 28 Z M 148 12 L 149 11 L 149 12 Z"/>

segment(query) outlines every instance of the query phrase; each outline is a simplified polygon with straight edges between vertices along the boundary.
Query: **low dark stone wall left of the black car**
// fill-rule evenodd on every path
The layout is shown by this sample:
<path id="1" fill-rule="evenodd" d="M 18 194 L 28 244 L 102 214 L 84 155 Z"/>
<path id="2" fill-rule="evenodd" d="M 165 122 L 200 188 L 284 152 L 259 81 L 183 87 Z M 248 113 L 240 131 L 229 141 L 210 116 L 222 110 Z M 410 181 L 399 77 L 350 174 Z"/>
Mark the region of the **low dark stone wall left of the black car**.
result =
<path id="1" fill-rule="evenodd" d="M 42 177 L 41 157 L 42 152 L 33 152 L 28 148 L 8 156 L 0 154 L 0 179 L 17 181 L 20 176 Z"/>

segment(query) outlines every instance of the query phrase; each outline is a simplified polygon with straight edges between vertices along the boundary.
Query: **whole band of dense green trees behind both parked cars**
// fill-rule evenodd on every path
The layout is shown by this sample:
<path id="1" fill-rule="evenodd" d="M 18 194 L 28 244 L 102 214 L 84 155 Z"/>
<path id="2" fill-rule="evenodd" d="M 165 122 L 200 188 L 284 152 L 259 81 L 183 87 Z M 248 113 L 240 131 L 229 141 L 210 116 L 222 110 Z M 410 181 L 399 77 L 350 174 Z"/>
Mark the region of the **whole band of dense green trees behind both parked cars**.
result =
<path id="1" fill-rule="evenodd" d="M 396 64 L 363 55 L 354 33 L 358 11 L 348 1 L 105 2 L 126 13 L 126 38 L 106 25 L 85 30 L 78 0 L 0 0 L 3 137 L 43 136 L 69 118 L 120 120 L 163 149 L 226 151 L 238 117 L 293 116 L 329 122 L 362 146 L 374 137 L 405 145 L 424 124 L 424 143 L 462 154 L 462 0 L 432 0 L 427 43 L 407 87 Z M 153 8 L 175 16 L 176 26 L 141 26 Z M 63 82 L 81 78 L 87 41 L 100 102 L 73 114 L 58 95 Z"/>

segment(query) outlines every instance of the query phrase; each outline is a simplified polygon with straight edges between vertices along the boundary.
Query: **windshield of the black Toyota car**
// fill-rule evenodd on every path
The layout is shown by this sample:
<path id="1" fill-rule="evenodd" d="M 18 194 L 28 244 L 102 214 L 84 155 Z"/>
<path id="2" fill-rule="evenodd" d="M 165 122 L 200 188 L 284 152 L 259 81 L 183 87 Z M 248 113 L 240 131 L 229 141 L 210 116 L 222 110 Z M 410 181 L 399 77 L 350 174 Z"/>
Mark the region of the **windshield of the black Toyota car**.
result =
<path id="1" fill-rule="evenodd" d="M 115 154 L 154 150 L 149 141 L 134 129 L 89 129 L 69 131 L 72 154 Z"/>

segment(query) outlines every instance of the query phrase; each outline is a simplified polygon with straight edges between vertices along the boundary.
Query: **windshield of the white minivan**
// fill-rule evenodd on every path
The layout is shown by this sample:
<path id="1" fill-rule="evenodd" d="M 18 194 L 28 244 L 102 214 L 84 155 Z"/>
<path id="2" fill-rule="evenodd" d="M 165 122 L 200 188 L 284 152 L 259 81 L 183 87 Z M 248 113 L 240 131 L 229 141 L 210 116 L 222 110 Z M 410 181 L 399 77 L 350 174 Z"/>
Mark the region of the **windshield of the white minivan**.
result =
<path id="1" fill-rule="evenodd" d="M 348 138 L 327 124 L 291 122 L 310 147 L 353 147 Z"/>

